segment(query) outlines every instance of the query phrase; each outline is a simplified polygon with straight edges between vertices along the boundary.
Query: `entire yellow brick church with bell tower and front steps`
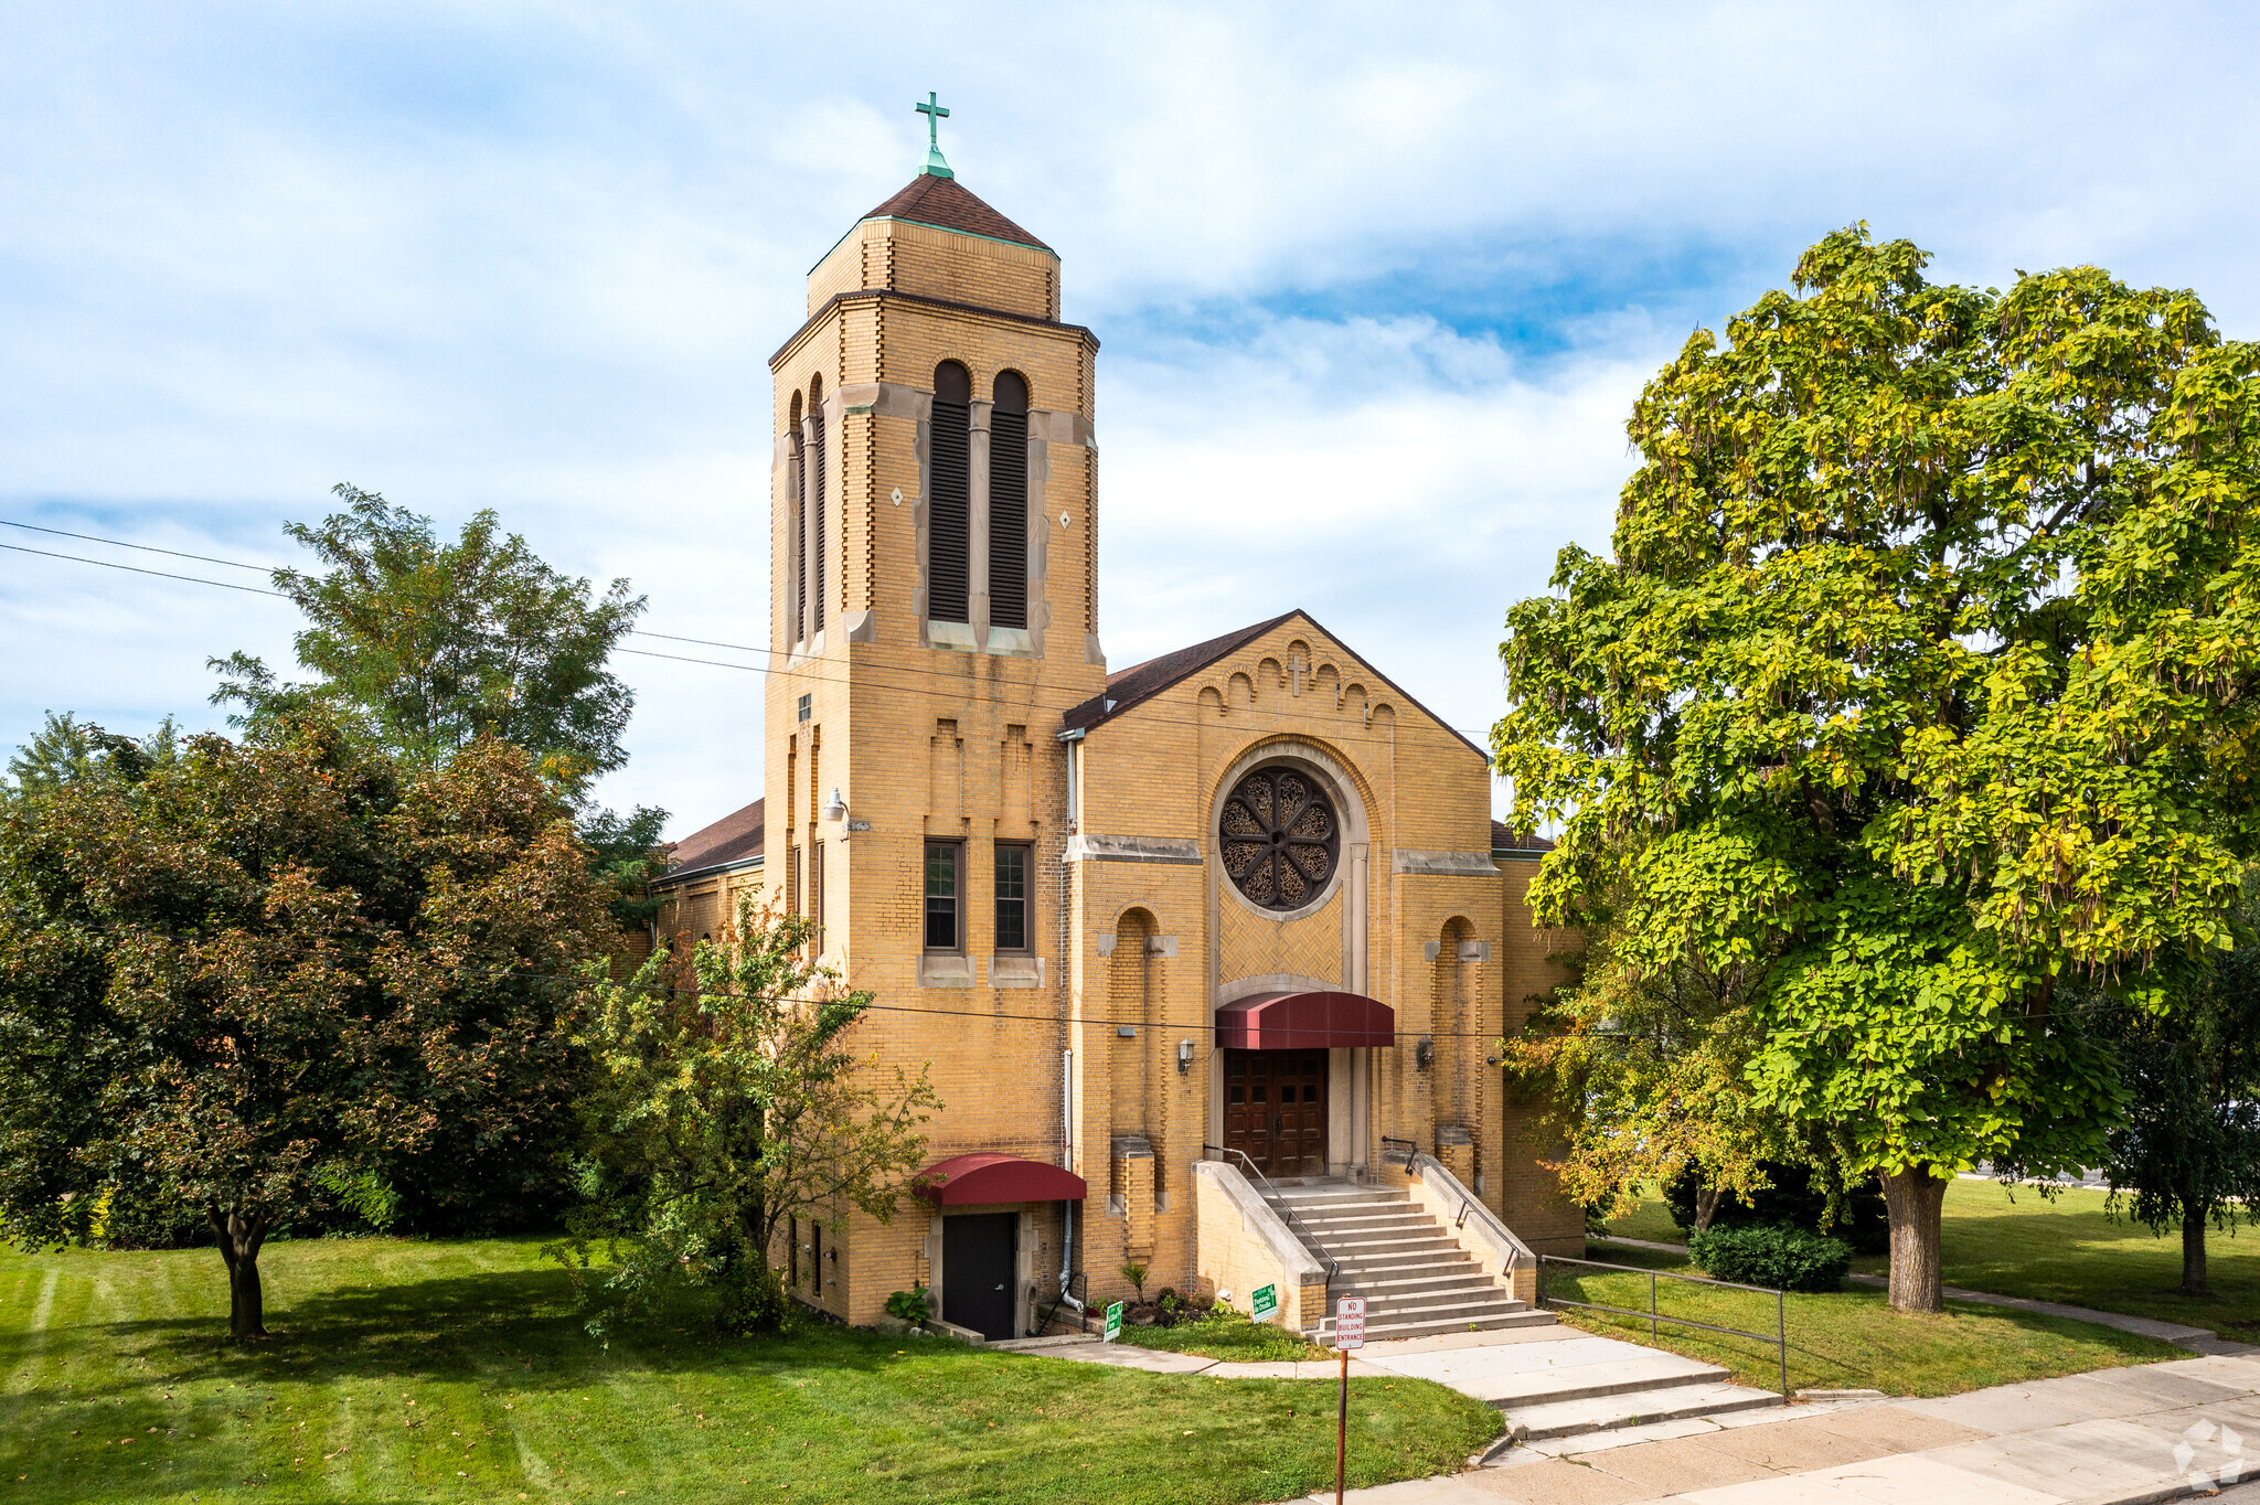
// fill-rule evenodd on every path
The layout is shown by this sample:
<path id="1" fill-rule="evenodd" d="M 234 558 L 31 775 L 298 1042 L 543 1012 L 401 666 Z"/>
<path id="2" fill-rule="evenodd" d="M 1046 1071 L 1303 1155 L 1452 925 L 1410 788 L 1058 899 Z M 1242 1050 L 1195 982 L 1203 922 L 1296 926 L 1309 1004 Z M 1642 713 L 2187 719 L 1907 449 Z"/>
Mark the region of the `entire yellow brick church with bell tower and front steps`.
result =
<path id="1" fill-rule="evenodd" d="M 809 915 L 877 994 L 857 1051 L 942 1101 L 893 1223 L 780 1259 L 845 1322 L 927 1286 L 985 1340 L 1096 1322 L 1125 1265 L 1306 1331 L 1338 1295 L 1374 1336 L 1512 1322 L 1584 1227 L 1496 1064 L 1568 942 L 1523 906 L 1546 843 L 1293 601 L 1110 673 L 1098 540 L 1141 524 L 1096 359 L 933 147 L 768 362 L 764 786 L 676 845 L 658 929 Z"/>

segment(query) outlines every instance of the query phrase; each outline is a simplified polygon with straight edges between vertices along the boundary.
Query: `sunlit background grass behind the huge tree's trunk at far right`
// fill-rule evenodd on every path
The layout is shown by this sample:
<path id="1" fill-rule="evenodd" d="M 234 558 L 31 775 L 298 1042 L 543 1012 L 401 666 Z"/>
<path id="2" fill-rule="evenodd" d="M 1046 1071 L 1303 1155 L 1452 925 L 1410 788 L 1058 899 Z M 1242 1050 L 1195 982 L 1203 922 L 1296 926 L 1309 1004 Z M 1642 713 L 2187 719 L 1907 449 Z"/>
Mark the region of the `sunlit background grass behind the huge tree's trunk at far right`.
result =
<path id="1" fill-rule="evenodd" d="M 1684 1241 L 1657 1198 L 1641 1202 L 1629 1218 L 1611 1220 L 1609 1232 Z M 2213 1295 L 2185 1297 L 2181 1232 L 2158 1238 L 2140 1223 L 2111 1218 L 2100 1191 L 2068 1186 L 2045 1200 L 2032 1186 L 2000 1182 L 1957 1180 L 1946 1189 L 1941 1250 L 1948 1286 L 2188 1322 L 2260 1342 L 2260 1229 L 2246 1227 L 2235 1236 L 2215 1229 L 2206 1247 Z M 1867 1254 L 1851 1268 L 1883 1275 L 1889 1263 L 1883 1254 Z"/>

